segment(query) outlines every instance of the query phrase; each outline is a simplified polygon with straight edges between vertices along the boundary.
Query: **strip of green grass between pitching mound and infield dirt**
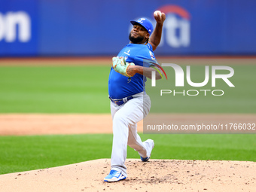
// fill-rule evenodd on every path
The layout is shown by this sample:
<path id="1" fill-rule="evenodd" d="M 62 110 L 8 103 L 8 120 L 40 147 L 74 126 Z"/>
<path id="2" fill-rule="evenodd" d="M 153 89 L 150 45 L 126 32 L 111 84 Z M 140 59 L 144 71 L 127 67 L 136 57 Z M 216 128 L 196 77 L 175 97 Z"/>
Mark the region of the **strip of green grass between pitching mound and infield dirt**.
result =
<path id="1" fill-rule="evenodd" d="M 143 135 L 153 159 L 256 161 L 255 135 Z M 111 134 L 0 137 L 0 174 L 111 157 Z M 139 154 L 128 147 L 128 158 Z"/>

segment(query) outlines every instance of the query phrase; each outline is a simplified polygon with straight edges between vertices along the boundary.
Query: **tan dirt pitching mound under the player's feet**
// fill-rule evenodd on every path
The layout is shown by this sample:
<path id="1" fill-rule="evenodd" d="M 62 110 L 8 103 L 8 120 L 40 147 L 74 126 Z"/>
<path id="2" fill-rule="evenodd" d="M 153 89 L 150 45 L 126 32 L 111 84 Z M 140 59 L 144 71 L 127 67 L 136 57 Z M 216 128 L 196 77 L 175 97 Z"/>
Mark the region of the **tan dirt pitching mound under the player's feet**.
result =
<path id="1" fill-rule="evenodd" d="M 110 160 L 0 175 L 12 191 L 255 191 L 256 163 L 203 160 L 126 160 L 128 178 L 107 183 Z"/>

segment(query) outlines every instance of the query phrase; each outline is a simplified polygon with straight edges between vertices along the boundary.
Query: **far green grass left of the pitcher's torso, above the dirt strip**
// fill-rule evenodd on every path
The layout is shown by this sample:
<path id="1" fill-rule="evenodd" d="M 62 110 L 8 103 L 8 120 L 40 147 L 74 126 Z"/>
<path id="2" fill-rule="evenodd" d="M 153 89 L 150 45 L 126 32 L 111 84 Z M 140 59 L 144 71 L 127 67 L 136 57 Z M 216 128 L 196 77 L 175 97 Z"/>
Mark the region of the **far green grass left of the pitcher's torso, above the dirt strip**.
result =
<path id="1" fill-rule="evenodd" d="M 0 113 L 110 113 L 109 66 L 0 67 Z"/>

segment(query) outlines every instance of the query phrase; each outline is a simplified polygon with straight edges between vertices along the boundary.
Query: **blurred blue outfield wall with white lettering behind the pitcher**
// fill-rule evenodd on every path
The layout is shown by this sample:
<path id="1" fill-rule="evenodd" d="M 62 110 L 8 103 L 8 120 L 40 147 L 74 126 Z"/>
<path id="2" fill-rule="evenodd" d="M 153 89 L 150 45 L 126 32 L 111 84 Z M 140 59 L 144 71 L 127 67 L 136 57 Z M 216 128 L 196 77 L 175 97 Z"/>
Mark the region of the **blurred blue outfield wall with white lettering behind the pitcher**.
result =
<path id="1" fill-rule="evenodd" d="M 166 13 L 156 56 L 254 56 L 255 1 L 0 0 L 0 56 L 113 56 L 130 20 Z"/>

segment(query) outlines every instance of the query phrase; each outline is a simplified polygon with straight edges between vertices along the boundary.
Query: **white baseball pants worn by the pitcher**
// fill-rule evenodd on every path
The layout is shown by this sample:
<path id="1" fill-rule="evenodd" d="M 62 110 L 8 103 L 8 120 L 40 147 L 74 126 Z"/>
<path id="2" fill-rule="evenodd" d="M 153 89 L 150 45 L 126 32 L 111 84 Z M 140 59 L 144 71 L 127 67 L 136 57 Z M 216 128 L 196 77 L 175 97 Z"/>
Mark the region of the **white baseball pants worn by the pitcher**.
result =
<path id="1" fill-rule="evenodd" d="M 151 154 L 152 148 L 145 145 L 137 133 L 137 123 L 146 117 L 150 108 L 151 100 L 145 92 L 133 95 L 133 99 L 120 106 L 111 102 L 113 120 L 111 169 L 122 172 L 126 177 L 124 163 L 127 145 L 138 151 L 141 157 L 148 157 Z"/>

